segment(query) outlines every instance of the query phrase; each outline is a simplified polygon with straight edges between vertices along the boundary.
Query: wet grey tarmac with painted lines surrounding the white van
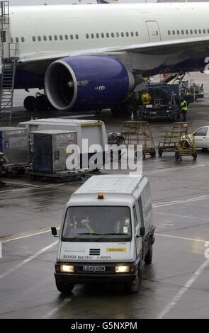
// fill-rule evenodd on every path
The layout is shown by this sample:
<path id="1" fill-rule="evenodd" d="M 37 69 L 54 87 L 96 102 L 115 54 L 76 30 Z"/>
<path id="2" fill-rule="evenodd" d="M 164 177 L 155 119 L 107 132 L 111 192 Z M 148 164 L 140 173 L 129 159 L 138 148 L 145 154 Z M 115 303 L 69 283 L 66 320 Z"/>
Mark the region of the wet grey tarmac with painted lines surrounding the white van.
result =
<path id="1" fill-rule="evenodd" d="M 188 111 L 194 129 L 209 125 L 209 84 L 204 78 L 205 98 Z M 22 108 L 16 115 L 21 120 L 28 116 Z M 122 119 L 113 119 L 108 111 L 96 118 L 105 121 L 108 132 L 120 130 Z M 165 121 L 152 122 L 156 145 L 170 127 Z M 60 225 L 64 203 L 81 182 L 4 179 L 0 318 L 209 317 L 209 151 L 200 150 L 197 161 L 183 157 L 176 162 L 173 153 L 147 157 L 143 173 L 151 181 L 157 229 L 153 264 L 142 267 L 137 295 L 108 285 L 76 286 L 72 295 L 60 295 L 53 276 L 57 239 L 50 227 Z"/>

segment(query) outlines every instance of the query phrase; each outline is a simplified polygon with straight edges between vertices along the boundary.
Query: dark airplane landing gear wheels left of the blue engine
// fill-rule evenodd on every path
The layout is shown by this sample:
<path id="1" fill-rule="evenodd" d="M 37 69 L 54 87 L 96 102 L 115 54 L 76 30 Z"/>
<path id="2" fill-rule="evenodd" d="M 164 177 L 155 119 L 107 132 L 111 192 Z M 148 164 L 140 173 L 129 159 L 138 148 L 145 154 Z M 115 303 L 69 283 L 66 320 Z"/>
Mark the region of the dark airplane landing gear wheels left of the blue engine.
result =
<path id="1" fill-rule="evenodd" d="M 47 111 L 52 110 L 52 106 L 45 94 L 37 93 L 34 96 L 27 96 L 24 100 L 24 108 L 28 111 Z"/>

